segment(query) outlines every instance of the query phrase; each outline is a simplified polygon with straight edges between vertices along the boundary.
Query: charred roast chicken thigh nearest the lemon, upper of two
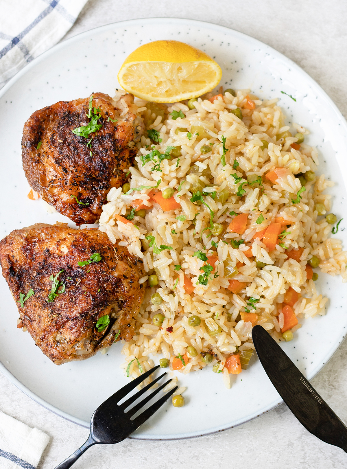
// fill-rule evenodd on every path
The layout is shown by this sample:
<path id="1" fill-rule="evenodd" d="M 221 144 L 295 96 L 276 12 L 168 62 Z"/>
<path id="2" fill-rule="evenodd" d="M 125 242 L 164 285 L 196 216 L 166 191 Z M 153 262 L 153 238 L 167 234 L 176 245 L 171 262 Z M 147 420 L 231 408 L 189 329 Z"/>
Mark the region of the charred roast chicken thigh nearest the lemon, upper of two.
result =
<path id="1" fill-rule="evenodd" d="M 137 151 L 134 142 L 144 129 L 134 112 L 132 94 L 118 93 L 117 102 L 103 93 L 92 96 L 102 128 L 88 139 L 72 130 L 90 122 L 89 97 L 35 111 L 23 129 L 23 168 L 30 186 L 77 225 L 95 223 L 107 192 L 124 184 L 123 169 L 131 166 Z"/>

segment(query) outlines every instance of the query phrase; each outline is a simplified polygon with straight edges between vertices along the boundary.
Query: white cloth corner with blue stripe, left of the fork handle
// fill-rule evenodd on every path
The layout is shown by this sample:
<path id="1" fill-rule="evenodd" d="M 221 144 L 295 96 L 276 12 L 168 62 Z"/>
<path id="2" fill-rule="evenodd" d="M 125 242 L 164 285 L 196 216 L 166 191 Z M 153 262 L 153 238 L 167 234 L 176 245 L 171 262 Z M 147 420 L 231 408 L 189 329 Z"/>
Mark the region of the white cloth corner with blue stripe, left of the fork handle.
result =
<path id="1" fill-rule="evenodd" d="M 0 412 L 0 468 L 35 469 L 49 436 Z"/>

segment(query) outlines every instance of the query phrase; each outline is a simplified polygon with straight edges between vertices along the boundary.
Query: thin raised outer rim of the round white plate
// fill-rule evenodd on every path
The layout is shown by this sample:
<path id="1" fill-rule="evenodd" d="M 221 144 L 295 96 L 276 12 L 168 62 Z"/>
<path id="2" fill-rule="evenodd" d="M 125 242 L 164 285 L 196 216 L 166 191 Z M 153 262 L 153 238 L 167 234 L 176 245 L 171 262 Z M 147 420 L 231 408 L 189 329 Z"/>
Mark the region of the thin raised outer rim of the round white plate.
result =
<path id="1" fill-rule="evenodd" d="M 46 57 L 51 56 L 54 54 L 56 51 L 59 51 L 60 49 L 67 47 L 69 44 L 75 43 L 80 39 L 83 39 L 83 37 L 89 37 L 94 31 L 106 31 L 110 30 L 113 27 L 121 27 L 121 25 L 136 25 L 136 24 L 142 24 L 146 22 L 161 22 L 161 21 L 166 21 L 166 22 L 171 22 L 171 23 L 176 23 L 176 24 L 194 24 L 194 25 L 201 25 L 202 27 L 208 27 L 212 28 L 214 30 L 218 30 L 219 32 L 225 32 L 225 34 L 228 35 L 234 35 L 235 37 L 240 37 L 243 40 L 246 40 L 248 43 L 252 43 L 254 45 L 259 44 L 261 45 L 262 48 L 267 48 L 269 51 L 271 51 L 272 55 L 275 56 L 276 58 L 279 58 L 281 60 L 284 60 L 289 64 L 291 67 L 295 68 L 297 71 L 300 71 L 303 76 L 307 79 L 307 81 L 312 85 L 313 88 L 318 90 L 321 94 L 321 96 L 329 103 L 329 106 L 332 108 L 336 116 L 339 118 L 339 121 L 341 122 L 341 125 L 345 127 L 345 131 L 347 134 L 347 121 L 341 111 L 339 110 L 338 106 L 334 103 L 332 98 L 324 91 L 324 89 L 305 71 L 303 70 L 297 63 L 295 63 L 292 59 L 289 59 L 286 55 L 283 53 L 277 51 L 274 49 L 272 46 L 265 44 L 264 42 L 260 41 L 259 39 L 253 38 L 252 36 L 249 36 L 248 34 L 242 33 L 241 31 L 234 30 L 232 28 L 228 28 L 226 26 L 222 26 L 216 23 L 209 23 L 206 21 L 200 21 L 200 20 L 194 20 L 190 18 L 170 18 L 170 17 L 148 17 L 148 18 L 136 18 L 133 20 L 124 20 L 124 21 L 119 21 L 119 22 L 113 22 L 113 23 L 108 23 L 102 26 L 98 26 L 96 28 L 92 28 L 86 31 L 83 31 L 81 33 L 76 34 L 75 36 L 72 36 L 71 38 L 65 39 L 62 42 L 59 42 L 56 45 L 53 45 L 50 49 L 45 51 L 44 53 L 40 54 L 38 57 L 36 57 L 33 61 L 29 62 L 27 65 L 25 65 L 21 70 L 19 70 L 12 78 L 8 80 L 8 82 L 2 87 L 0 90 L 0 98 L 12 87 L 13 84 L 15 84 L 23 75 L 25 75 L 32 67 L 36 66 L 41 61 L 44 61 Z M 347 189 L 347 187 L 346 187 Z M 321 371 L 324 366 L 331 360 L 332 356 L 337 352 L 339 347 L 341 346 L 342 342 L 344 340 L 344 335 L 341 334 L 340 340 L 337 342 L 336 347 L 333 347 L 331 349 L 330 355 L 326 356 L 324 363 L 319 369 L 316 369 L 316 371 L 312 374 L 312 376 L 309 376 L 307 379 L 311 380 L 313 379 L 319 371 Z M 69 422 L 73 422 L 79 426 L 82 426 L 83 428 L 90 428 L 90 424 L 88 422 L 85 422 L 78 417 L 71 416 L 67 412 L 60 410 L 50 404 L 49 402 L 45 401 L 44 399 L 40 398 L 37 394 L 34 392 L 30 391 L 30 389 L 25 386 L 18 378 L 16 378 L 8 369 L 6 366 L 0 362 L 0 371 L 8 378 L 18 389 L 20 389 L 24 394 L 26 394 L 28 397 L 30 397 L 33 401 L 37 402 L 40 404 L 42 407 L 50 410 L 53 412 L 55 415 L 58 415 L 65 420 Z M 189 432 L 189 433 L 181 433 L 179 435 L 151 435 L 151 437 L 146 437 L 146 435 L 132 435 L 128 438 L 130 439 L 139 439 L 139 440 L 153 440 L 153 441 L 160 441 L 160 440 L 176 440 L 176 439 L 189 439 L 189 438 L 197 438 L 200 436 L 204 435 L 211 435 L 213 433 L 217 433 L 220 431 L 225 431 L 229 430 L 231 428 L 237 427 L 238 425 L 244 424 L 249 422 L 250 420 L 253 420 L 254 418 L 261 416 L 273 408 L 278 407 L 283 403 L 283 400 L 279 397 L 279 399 L 276 399 L 272 404 L 269 406 L 265 406 L 263 409 L 260 409 L 257 412 L 254 412 L 250 416 L 248 416 L 246 419 L 240 419 L 240 421 L 236 421 L 235 424 L 231 426 L 226 426 L 225 424 L 220 425 L 219 427 L 215 427 L 213 429 L 209 429 L 207 431 L 194 431 L 194 432 Z"/>

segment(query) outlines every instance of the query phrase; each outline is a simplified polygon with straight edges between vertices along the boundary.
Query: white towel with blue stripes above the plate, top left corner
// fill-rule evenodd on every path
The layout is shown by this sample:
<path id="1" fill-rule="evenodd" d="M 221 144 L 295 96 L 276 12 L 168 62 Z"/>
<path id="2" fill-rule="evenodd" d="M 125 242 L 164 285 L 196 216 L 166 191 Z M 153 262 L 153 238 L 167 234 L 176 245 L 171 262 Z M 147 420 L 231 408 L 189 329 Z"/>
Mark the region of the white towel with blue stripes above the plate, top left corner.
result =
<path id="1" fill-rule="evenodd" d="M 0 0 L 0 88 L 56 44 L 87 0 Z"/>

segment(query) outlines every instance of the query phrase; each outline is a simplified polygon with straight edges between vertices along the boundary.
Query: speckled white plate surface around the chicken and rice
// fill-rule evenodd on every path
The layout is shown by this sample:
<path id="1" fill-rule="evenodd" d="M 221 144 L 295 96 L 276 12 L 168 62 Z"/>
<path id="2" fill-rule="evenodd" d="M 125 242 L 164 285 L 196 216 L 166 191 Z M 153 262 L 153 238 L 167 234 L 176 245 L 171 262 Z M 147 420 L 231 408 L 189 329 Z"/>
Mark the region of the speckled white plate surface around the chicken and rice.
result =
<path id="1" fill-rule="evenodd" d="M 347 222 L 347 124 L 317 83 L 282 54 L 237 31 L 192 20 L 155 18 L 110 24 L 75 36 L 32 61 L 0 91 L 1 238 L 35 222 L 60 220 L 73 226 L 59 214 L 48 214 L 41 200 L 26 197 L 29 186 L 22 169 L 21 136 L 30 114 L 91 92 L 112 95 L 117 72 L 128 54 L 157 39 L 177 39 L 204 50 L 221 66 L 221 84 L 226 88 L 250 88 L 261 99 L 279 97 L 287 121 L 311 131 L 305 141 L 318 148 L 319 171 L 337 182 L 330 190 L 333 212 Z M 294 96 L 296 102 L 280 91 Z M 347 247 L 346 224 L 340 226 L 337 237 Z M 341 280 L 319 274 L 317 287 L 330 298 L 327 315 L 304 320 L 295 339 L 283 345 L 308 379 L 339 347 L 347 326 L 346 287 Z M 88 427 L 93 410 L 127 382 L 119 369 L 121 344 L 113 345 L 107 355 L 56 366 L 34 346 L 28 333 L 16 328 L 18 311 L 2 277 L 0 294 L 1 371 L 35 401 Z M 249 370 L 233 379 L 230 390 L 211 368 L 179 374 L 179 381 L 187 386 L 186 405 L 166 404 L 133 438 L 188 438 L 222 431 L 281 402 L 256 358 Z"/>

